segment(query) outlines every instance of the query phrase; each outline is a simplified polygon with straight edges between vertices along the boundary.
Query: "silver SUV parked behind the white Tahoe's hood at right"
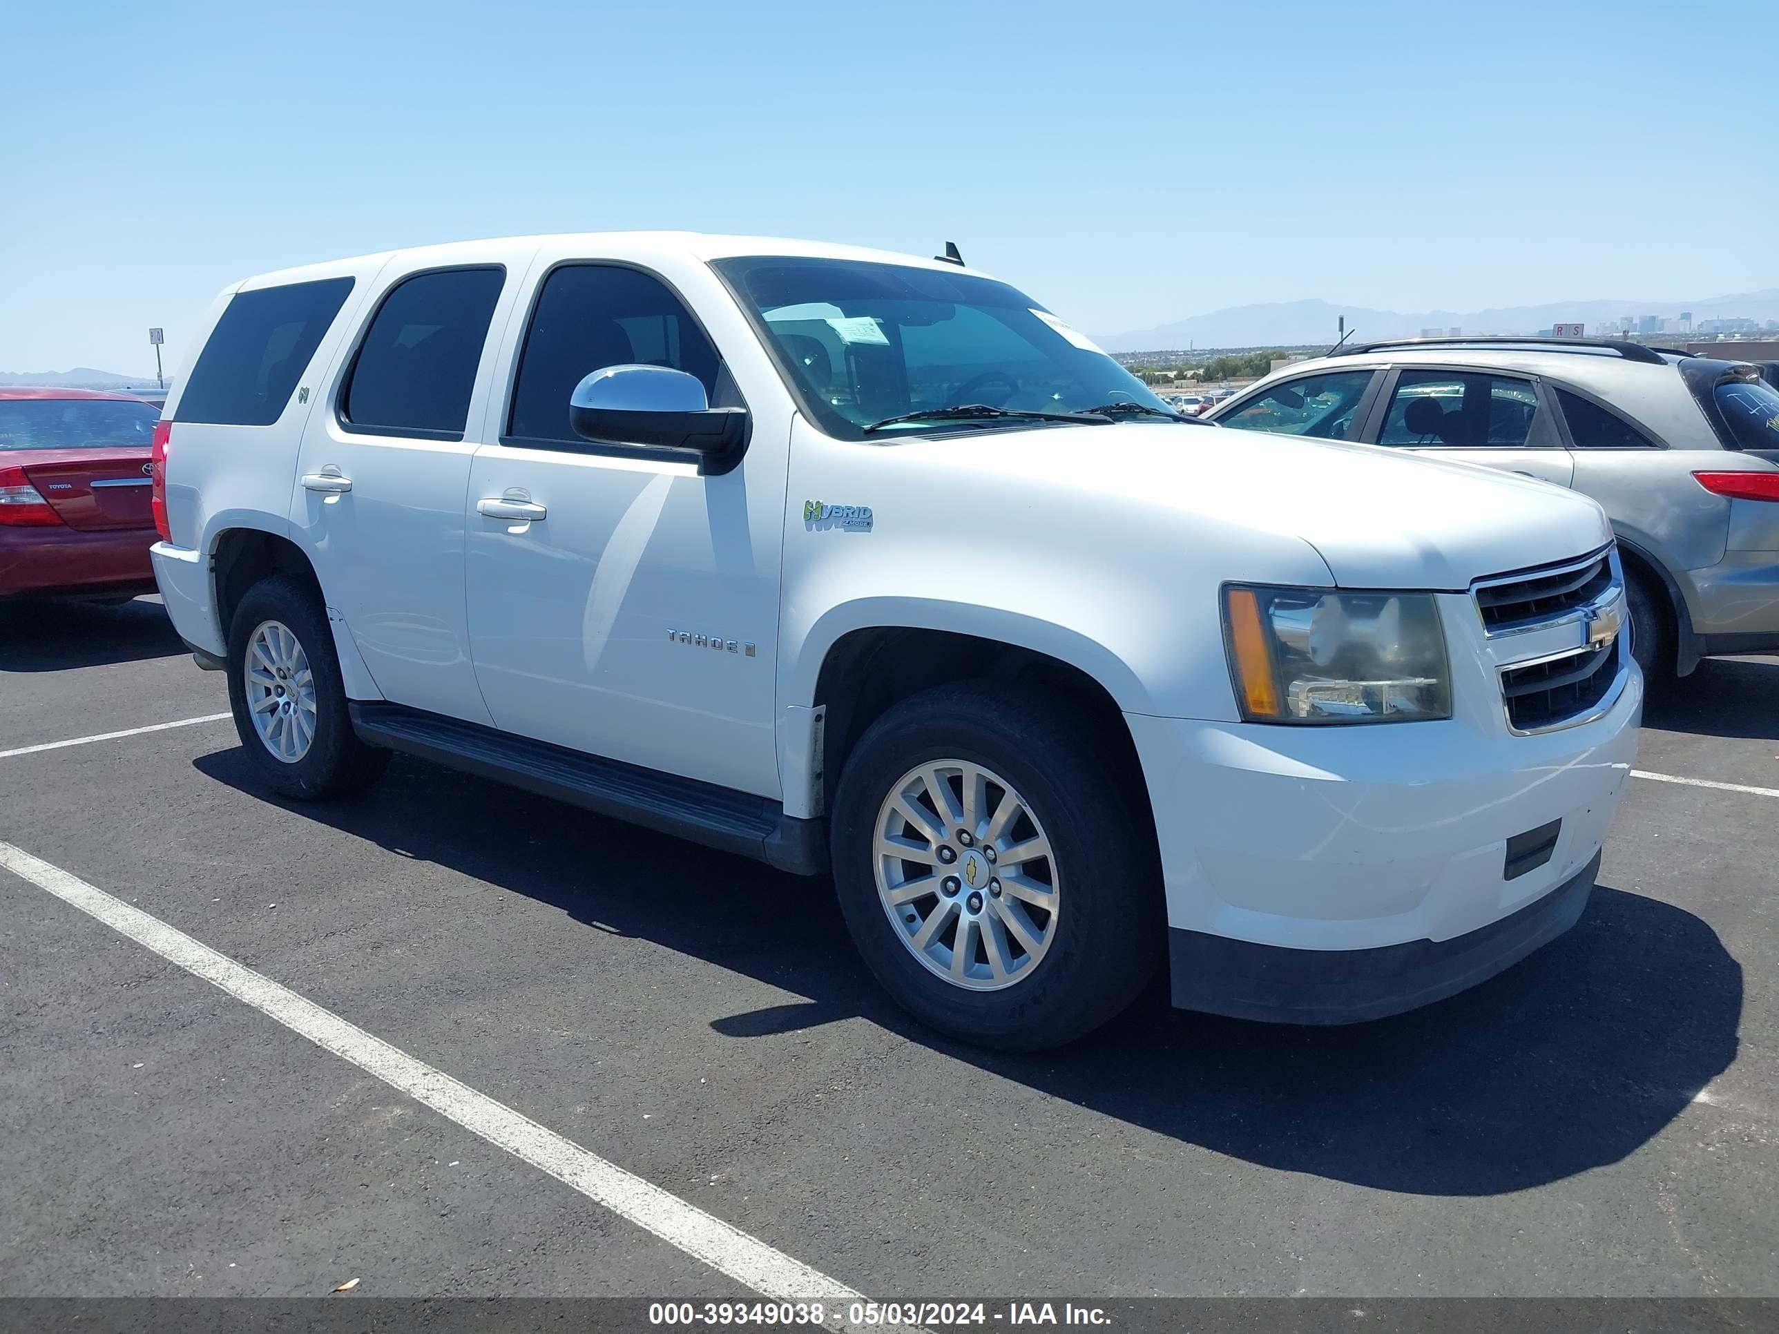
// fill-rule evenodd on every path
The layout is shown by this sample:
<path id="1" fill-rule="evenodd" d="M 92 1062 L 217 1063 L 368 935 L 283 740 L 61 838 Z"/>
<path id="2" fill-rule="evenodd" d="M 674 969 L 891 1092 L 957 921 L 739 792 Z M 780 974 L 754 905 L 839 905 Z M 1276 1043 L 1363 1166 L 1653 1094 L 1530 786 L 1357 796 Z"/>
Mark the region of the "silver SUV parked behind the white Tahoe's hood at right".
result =
<path id="1" fill-rule="evenodd" d="M 1653 678 L 1779 649 L 1779 390 L 1756 366 L 1603 340 L 1402 340 L 1293 363 L 1208 416 L 1592 496 Z"/>

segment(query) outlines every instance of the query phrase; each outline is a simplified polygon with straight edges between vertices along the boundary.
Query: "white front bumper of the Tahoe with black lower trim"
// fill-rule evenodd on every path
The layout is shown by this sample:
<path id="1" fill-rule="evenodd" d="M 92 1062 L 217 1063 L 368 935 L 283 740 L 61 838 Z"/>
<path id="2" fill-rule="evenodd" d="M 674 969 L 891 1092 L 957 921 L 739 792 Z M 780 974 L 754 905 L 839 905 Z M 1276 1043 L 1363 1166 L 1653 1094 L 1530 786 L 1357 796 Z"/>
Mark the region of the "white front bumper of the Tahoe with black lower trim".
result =
<path id="1" fill-rule="evenodd" d="M 1498 699 L 1450 722 L 1352 727 L 1126 715 L 1162 850 L 1176 1003 L 1304 1023 L 1347 1009 L 1363 1019 L 1450 994 L 1537 948 L 1550 936 L 1516 934 L 1478 971 L 1482 937 L 1464 937 L 1553 895 L 1569 904 L 1573 882 L 1592 882 L 1640 713 L 1642 678 L 1626 669 L 1605 713 L 1533 736 L 1509 735 Z M 1553 824 L 1537 864 L 1514 861 L 1510 841 L 1517 848 Z M 1206 941 L 1228 946 L 1226 962 L 1210 959 Z M 1256 952 L 1277 952 L 1277 962 Z M 1306 953 L 1348 957 L 1306 968 Z M 1441 989 L 1409 976 L 1446 968 L 1464 980 Z M 1270 980 L 1249 994 L 1231 973 Z M 1308 1000 L 1279 984 L 1292 975 Z M 1347 978 L 1347 1001 L 1322 994 L 1332 976 Z"/>

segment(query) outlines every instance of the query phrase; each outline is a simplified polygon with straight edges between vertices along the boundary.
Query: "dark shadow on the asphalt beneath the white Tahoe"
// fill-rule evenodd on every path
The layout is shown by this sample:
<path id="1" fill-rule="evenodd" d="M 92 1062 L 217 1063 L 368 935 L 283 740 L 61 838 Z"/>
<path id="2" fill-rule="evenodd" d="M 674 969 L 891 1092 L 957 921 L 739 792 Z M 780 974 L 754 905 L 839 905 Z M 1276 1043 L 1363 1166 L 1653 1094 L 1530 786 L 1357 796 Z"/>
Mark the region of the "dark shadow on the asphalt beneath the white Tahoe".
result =
<path id="1" fill-rule="evenodd" d="M 254 790 L 240 751 L 194 763 Z M 806 996 L 712 1025 L 761 1044 L 763 1062 L 776 1060 L 776 1035 L 866 1019 L 1160 1135 L 1381 1190 L 1493 1195 L 1614 1163 L 1736 1058 L 1740 964 L 1692 912 L 1610 886 L 1551 946 L 1414 1014 L 1345 1028 L 1258 1025 L 1172 1010 L 1156 985 L 1062 1051 L 1007 1057 L 930 1033 L 897 1009 L 854 953 L 825 880 L 404 756 L 354 802 L 279 804 L 550 904 L 589 930 Z M 498 831 L 521 829 L 514 856 Z M 993 1115 L 984 1085 L 954 1089 Z"/>

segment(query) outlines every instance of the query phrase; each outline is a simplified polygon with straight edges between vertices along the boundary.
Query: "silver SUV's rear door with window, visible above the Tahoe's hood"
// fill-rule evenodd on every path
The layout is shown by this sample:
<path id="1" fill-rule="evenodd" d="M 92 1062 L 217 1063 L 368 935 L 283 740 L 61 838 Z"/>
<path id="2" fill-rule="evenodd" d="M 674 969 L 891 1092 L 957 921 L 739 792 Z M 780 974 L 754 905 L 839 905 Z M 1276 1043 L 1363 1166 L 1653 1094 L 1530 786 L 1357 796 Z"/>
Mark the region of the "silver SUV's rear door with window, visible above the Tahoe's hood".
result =
<path id="1" fill-rule="evenodd" d="M 1557 486 L 1574 480 L 1574 461 L 1535 375 L 1400 366 L 1389 372 L 1364 439 Z"/>

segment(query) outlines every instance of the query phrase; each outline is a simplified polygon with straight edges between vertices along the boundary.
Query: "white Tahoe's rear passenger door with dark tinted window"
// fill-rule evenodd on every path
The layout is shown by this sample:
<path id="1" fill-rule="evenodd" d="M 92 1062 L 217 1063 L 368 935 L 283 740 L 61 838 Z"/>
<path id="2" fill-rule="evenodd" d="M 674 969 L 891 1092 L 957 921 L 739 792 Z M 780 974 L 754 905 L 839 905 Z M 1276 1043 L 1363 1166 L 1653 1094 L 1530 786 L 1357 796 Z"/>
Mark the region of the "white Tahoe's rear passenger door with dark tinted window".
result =
<path id="1" fill-rule="evenodd" d="M 390 263 L 322 384 L 290 496 L 329 612 L 382 695 L 482 724 L 463 607 L 463 502 L 489 329 L 503 327 L 534 251 L 479 245 L 463 263 Z"/>

